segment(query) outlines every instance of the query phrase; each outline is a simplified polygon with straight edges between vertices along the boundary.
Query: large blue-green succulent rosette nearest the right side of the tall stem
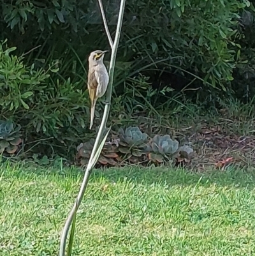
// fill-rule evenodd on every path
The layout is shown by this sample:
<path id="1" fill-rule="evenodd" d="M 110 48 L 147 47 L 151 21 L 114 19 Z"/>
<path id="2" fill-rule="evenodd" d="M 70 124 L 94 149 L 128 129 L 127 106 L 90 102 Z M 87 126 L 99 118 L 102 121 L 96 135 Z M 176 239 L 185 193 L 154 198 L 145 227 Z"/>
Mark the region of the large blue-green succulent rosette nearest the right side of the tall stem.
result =
<path id="1" fill-rule="evenodd" d="M 119 152 L 132 163 L 143 161 L 148 135 L 136 127 L 119 130 Z"/>

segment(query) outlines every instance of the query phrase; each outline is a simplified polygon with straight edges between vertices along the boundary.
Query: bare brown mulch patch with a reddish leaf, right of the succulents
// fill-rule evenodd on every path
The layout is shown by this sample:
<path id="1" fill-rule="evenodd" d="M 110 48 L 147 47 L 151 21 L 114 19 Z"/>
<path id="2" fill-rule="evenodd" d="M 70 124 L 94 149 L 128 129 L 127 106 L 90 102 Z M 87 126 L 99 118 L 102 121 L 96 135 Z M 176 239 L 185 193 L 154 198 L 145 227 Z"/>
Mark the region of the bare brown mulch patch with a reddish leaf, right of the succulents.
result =
<path id="1" fill-rule="evenodd" d="M 255 167 L 255 136 L 231 134 L 221 126 L 205 124 L 194 132 L 192 127 L 184 128 L 182 136 L 196 151 L 191 167 L 204 170 L 210 165 L 219 169 L 235 164 L 241 167 Z M 181 137 L 181 136 L 180 136 Z"/>

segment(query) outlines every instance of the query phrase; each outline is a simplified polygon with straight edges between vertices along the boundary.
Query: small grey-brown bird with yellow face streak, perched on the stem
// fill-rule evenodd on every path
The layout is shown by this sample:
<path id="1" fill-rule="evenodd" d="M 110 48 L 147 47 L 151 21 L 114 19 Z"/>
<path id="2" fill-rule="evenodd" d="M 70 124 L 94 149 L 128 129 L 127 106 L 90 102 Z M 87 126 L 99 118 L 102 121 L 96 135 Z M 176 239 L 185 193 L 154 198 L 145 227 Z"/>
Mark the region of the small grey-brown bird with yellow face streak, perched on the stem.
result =
<path id="1" fill-rule="evenodd" d="M 109 82 L 109 75 L 103 63 L 106 52 L 108 52 L 108 50 L 94 50 L 94 52 L 91 52 L 89 55 L 87 87 L 89 89 L 89 98 L 91 99 L 90 130 L 94 121 L 96 101 L 105 94 Z"/>

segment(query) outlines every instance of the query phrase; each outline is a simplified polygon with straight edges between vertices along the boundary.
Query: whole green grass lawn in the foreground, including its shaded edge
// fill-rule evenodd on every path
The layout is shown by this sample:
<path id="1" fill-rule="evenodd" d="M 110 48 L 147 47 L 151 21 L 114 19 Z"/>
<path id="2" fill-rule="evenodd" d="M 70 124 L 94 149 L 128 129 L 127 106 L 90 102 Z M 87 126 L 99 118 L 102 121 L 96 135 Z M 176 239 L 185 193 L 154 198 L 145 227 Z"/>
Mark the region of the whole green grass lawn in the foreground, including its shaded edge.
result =
<path id="1" fill-rule="evenodd" d="M 75 169 L 2 165 L 0 255 L 57 255 L 82 181 Z M 254 255 L 252 172 L 96 171 L 73 255 Z"/>

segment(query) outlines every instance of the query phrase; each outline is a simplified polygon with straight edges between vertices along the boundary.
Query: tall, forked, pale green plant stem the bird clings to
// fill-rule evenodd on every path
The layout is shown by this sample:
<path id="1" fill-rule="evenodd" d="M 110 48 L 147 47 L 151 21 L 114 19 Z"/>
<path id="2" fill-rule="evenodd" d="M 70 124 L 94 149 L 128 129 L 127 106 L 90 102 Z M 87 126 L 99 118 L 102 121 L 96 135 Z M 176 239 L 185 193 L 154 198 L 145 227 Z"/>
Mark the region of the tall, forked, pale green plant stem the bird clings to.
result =
<path id="1" fill-rule="evenodd" d="M 99 5 L 101 5 L 100 4 L 101 0 L 98 0 L 98 1 L 99 1 Z M 71 226 L 72 222 L 74 221 L 74 217 L 76 216 L 78 207 L 80 207 L 80 203 L 82 202 L 82 198 L 84 197 L 84 193 L 87 188 L 87 184 L 89 182 L 89 176 L 91 174 L 91 170 L 94 167 L 94 165 L 96 164 L 96 162 L 98 161 L 98 157 L 99 157 L 99 154 L 101 153 L 102 145 L 105 144 L 105 140 L 108 135 L 108 133 L 106 133 L 106 136 L 103 138 L 103 133 L 105 132 L 105 127 L 106 127 L 106 123 L 107 123 L 109 112 L 110 112 L 110 103 L 111 103 L 111 98 L 112 98 L 113 74 L 114 74 L 114 68 L 115 68 L 115 60 L 116 60 L 116 56 L 117 56 L 117 49 L 119 46 L 119 39 L 120 39 L 120 32 L 121 32 L 121 27 L 122 27 L 125 3 L 126 3 L 126 0 L 121 0 L 120 10 L 119 10 L 119 19 L 118 19 L 114 43 L 111 43 L 112 38 L 110 38 L 108 35 L 109 31 L 108 31 L 106 19 L 104 21 L 106 33 L 108 35 L 108 40 L 110 41 L 110 45 L 112 47 L 112 55 L 111 55 L 110 68 L 109 68 L 109 84 L 108 84 L 108 88 L 107 88 L 107 92 L 106 92 L 105 111 L 104 111 L 101 125 L 99 128 L 98 136 L 96 137 L 96 142 L 92 149 L 91 158 L 89 159 L 89 163 L 85 170 L 84 179 L 82 181 L 80 191 L 78 193 L 77 199 L 75 200 L 75 204 L 74 204 L 73 208 L 71 209 L 69 216 L 66 220 L 64 229 L 62 230 L 59 256 L 65 255 L 66 240 L 68 237 L 69 227 Z M 105 12 L 103 11 L 103 5 L 101 5 L 100 9 L 101 9 L 101 14 L 102 14 L 103 20 L 104 20 Z M 109 130 L 108 130 L 108 132 L 109 132 Z M 100 146 L 99 146 L 99 144 L 100 144 Z M 73 233 L 74 233 L 74 231 L 73 231 Z M 73 237 L 71 237 L 71 239 L 73 240 Z"/>

